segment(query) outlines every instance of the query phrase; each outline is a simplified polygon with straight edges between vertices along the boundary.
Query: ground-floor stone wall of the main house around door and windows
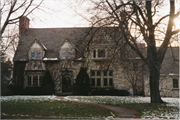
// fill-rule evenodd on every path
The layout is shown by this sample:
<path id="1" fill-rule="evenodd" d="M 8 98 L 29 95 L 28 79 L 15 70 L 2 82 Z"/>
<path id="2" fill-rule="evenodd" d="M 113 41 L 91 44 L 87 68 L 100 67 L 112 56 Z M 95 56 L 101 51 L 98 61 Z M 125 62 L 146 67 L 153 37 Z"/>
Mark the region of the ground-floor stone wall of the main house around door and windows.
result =
<path id="1" fill-rule="evenodd" d="M 90 76 L 91 70 L 112 70 L 113 71 L 113 85 L 115 89 L 127 90 L 130 92 L 132 85 L 127 79 L 125 79 L 123 74 L 123 69 L 120 65 L 113 67 L 110 65 L 108 67 L 107 61 L 88 61 L 89 67 L 87 73 Z M 72 76 L 71 84 L 75 82 L 76 76 L 79 73 L 80 67 L 86 66 L 87 63 L 83 65 L 81 60 L 63 60 L 63 61 L 45 61 L 44 62 L 46 70 L 50 71 L 52 78 L 55 83 L 55 94 L 62 93 L 62 76 L 66 72 Z M 142 83 L 137 83 L 137 92 L 143 91 Z"/>

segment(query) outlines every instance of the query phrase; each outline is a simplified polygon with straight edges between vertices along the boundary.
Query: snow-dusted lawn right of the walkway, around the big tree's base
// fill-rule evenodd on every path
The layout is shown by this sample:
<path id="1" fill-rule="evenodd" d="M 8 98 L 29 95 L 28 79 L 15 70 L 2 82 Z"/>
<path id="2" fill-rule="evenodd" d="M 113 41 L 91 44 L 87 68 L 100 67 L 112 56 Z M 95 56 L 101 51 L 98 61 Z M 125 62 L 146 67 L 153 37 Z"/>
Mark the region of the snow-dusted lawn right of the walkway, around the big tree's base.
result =
<path id="1" fill-rule="evenodd" d="M 141 118 L 179 119 L 179 98 L 162 98 L 166 104 L 150 104 L 149 97 L 68 96 L 66 99 L 113 104 L 134 109 Z"/>

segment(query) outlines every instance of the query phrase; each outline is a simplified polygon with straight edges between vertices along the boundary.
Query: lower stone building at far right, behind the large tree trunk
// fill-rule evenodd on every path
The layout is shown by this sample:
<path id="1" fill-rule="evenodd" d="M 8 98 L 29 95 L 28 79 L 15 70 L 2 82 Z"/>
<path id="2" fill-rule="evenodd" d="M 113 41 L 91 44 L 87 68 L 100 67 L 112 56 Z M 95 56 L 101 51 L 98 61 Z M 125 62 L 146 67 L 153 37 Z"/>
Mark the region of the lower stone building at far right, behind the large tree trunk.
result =
<path id="1" fill-rule="evenodd" d="M 144 93 L 145 96 L 150 96 L 147 77 L 144 79 Z M 168 48 L 162 63 L 159 84 L 162 97 L 179 97 L 179 47 Z"/>

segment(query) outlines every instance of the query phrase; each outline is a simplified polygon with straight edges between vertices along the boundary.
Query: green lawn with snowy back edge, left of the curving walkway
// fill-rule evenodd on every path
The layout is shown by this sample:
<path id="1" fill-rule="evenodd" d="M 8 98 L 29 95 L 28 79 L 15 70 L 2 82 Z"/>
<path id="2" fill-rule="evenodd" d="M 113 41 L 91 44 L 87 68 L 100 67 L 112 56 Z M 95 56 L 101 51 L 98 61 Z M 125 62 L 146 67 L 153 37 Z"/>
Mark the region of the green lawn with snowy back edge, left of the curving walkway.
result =
<path id="1" fill-rule="evenodd" d="M 108 117 L 112 112 L 103 107 L 67 100 L 55 96 L 5 96 L 1 97 L 2 119 L 45 119 Z"/>

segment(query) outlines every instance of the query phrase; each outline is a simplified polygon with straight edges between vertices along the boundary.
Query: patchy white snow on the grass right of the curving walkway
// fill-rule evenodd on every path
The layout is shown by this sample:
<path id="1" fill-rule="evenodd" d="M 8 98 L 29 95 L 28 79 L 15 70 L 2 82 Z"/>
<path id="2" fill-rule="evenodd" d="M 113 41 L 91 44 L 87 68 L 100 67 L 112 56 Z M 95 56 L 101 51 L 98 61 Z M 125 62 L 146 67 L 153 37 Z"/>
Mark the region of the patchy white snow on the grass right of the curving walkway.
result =
<path id="1" fill-rule="evenodd" d="M 73 99 L 86 102 L 98 102 L 104 104 L 125 104 L 125 103 L 150 103 L 150 97 L 132 97 L 132 96 L 68 96 L 66 99 Z M 162 98 L 167 102 L 166 106 L 174 106 L 168 110 L 159 107 L 159 110 L 144 110 L 143 118 L 149 119 L 180 119 L 179 117 L 179 98 Z"/>

